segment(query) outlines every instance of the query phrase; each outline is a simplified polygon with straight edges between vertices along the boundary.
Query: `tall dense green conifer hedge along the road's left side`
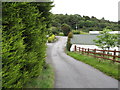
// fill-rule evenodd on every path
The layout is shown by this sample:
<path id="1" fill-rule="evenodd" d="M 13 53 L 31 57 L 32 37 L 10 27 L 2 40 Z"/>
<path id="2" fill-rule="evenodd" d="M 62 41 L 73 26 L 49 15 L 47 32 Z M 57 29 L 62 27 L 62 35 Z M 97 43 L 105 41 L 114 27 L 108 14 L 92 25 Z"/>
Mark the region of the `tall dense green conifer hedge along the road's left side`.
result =
<path id="1" fill-rule="evenodd" d="M 2 2 L 2 87 L 23 88 L 46 57 L 51 2 Z"/>

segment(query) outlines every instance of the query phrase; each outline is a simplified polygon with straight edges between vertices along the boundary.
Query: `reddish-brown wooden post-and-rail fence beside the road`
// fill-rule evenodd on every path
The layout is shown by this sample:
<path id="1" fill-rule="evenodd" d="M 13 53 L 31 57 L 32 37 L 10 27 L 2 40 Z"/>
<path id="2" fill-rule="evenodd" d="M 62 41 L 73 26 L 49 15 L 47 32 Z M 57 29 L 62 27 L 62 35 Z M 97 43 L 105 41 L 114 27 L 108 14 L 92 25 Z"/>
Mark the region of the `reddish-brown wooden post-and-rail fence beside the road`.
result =
<path id="1" fill-rule="evenodd" d="M 102 58 L 120 63 L 120 51 L 81 48 L 81 47 L 77 47 L 76 45 L 74 47 L 74 51 L 75 52 L 78 51 L 79 53 L 93 56 L 95 58 Z"/>

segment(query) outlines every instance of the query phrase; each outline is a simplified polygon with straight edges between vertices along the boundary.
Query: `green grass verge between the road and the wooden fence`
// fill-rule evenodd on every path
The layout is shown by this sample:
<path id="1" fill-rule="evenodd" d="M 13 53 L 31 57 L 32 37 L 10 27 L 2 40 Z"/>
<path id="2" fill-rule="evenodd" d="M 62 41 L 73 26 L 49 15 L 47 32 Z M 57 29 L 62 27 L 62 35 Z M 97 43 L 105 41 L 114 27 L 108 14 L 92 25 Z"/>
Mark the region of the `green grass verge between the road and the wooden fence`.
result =
<path id="1" fill-rule="evenodd" d="M 69 56 L 71 56 L 79 61 L 82 61 L 86 64 L 93 66 L 94 68 L 100 70 L 101 72 L 105 73 L 106 75 L 109 75 L 117 80 L 120 80 L 120 75 L 119 75 L 120 70 L 118 69 L 118 67 L 120 67 L 119 63 L 113 63 L 112 61 L 109 61 L 109 60 L 103 60 L 103 59 L 90 57 L 87 55 L 82 55 L 77 52 L 66 51 L 66 53 Z"/>

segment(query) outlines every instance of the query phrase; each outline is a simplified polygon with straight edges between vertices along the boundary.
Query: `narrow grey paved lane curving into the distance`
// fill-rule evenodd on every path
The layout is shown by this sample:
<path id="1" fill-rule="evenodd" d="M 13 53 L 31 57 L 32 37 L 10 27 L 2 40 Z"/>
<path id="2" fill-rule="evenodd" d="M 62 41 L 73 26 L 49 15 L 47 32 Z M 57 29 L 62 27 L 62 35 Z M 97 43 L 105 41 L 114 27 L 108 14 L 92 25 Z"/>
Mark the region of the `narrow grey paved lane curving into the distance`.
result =
<path id="1" fill-rule="evenodd" d="M 48 43 L 47 63 L 55 70 L 55 88 L 118 88 L 118 81 L 64 52 L 67 37 Z"/>

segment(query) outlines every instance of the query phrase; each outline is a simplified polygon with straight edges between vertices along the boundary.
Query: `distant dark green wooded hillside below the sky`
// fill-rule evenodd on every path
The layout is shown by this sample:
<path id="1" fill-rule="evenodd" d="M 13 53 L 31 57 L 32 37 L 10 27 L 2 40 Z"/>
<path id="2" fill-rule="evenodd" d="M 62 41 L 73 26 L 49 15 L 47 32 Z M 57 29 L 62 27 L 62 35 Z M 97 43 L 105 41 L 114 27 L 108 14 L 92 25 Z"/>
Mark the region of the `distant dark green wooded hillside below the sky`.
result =
<path id="1" fill-rule="evenodd" d="M 117 22 L 111 22 L 109 20 L 97 19 L 92 16 L 81 16 L 78 14 L 53 14 L 52 17 L 52 31 L 61 31 L 61 26 L 67 24 L 72 30 L 81 30 L 84 32 L 89 31 L 102 31 L 104 28 L 112 29 L 113 31 L 119 31 L 120 25 Z"/>

